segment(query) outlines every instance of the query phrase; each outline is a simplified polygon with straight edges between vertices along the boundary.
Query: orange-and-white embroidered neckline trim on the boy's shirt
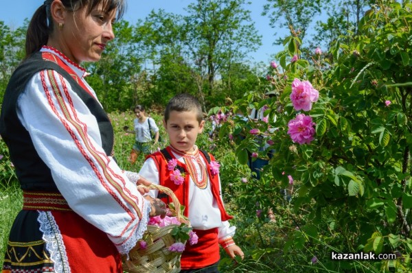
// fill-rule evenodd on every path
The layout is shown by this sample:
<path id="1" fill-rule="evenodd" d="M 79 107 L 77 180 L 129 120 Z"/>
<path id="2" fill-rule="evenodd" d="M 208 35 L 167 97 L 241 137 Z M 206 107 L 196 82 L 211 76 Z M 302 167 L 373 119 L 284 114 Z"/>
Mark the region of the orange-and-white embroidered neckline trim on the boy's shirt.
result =
<path id="1" fill-rule="evenodd" d="M 172 146 L 172 151 L 183 157 L 183 161 L 185 162 L 185 165 L 189 171 L 190 177 L 192 178 L 194 184 L 199 188 L 199 189 L 206 189 L 207 188 L 207 171 L 206 171 L 206 166 L 205 163 L 201 160 L 201 155 L 199 153 L 199 150 L 196 146 L 194 146 L 194 151 L 193 152 L 181 152 L 179 150 L 174 149 Z M 200 169 L 200 180 L 199 180 L 199 174 L 196 168 L 196 165 L 198 166 L 198 169 Z"/>

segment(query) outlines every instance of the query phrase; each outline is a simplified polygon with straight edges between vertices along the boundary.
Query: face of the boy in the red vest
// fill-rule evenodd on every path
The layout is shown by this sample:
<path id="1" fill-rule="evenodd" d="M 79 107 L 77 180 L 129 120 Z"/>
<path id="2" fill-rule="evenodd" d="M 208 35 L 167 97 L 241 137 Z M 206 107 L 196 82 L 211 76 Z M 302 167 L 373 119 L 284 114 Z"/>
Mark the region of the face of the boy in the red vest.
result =
<path id="1" fill-rule="evenodd" d="M 182 152 L 192 152 L 198 134 L 203 132 L 205 121 L 199 124 L 197 112 L 192 111 L 170 111 L 169 120 L 163 119 L 163 126 L 169 135 L 170 145 Z"/>

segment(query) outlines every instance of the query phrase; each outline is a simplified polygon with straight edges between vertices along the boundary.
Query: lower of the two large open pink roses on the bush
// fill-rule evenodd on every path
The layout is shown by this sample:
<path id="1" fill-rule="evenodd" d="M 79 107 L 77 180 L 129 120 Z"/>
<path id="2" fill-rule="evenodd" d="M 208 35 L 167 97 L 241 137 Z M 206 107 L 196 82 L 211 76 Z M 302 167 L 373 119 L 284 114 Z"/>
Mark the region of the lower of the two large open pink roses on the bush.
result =
<path id="1" fill-rule="evenodd" d="M 309 144 L 314 139 L 314 126 L 312 117 L 299 114 L 288 123 L 288 134 L 290 138 L 299 144 Z"/>

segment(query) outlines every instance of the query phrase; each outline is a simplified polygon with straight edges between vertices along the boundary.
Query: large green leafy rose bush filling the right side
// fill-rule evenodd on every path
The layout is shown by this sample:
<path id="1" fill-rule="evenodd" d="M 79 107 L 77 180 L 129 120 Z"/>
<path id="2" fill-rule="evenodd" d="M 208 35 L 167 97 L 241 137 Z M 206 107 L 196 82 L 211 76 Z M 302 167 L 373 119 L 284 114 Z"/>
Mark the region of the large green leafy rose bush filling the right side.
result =
<path id="1" fill-rule="evenodd" d="M 223 112 L 244 113 L 268 107 L 267 123 L 233 117 L 219 134 L 234 140 L 244 135 L 236 149 L 240 163 L 246 163 L 247 151 L 266 156 L 252 128 L 271 141 L 268 150 L 275 150 L 275 156 L 263 178 L 239 187 L 241 198 L 233 201 L 239 207 L 259 202 L 277 212 L 277 228 L 285 233 L 279 242 L 286 261 L 282 268 L 411 270 L 411 8 L 411 3 L 379 2 L 361 19 L 359 36 L 347 44 L 338 41 L 328 54 L 313 54 L 312 64 L 299 58 L 290 62 L 300 56 L 301 40 L 286 38 L 286 50 L 277 54 L 279 66 L 269 78 L 279 95 L 256 99 L 262 94 L 249 93 L 222 107 Z M 319 100 L 306 112 L 295 110 L 290 101 L 295 79 L 308 80 L 319 91 Z M 310 144 L 300 145 L 293 143 L 288 129 L 302 113 L 316 123 L 316 134 Z M 290 202 L 279 204 L 279 191 Z M 264 248 L 259 248 L 261 259 Z M 332 261 L 332 250 L 396 253 L 397 258 Z"/>

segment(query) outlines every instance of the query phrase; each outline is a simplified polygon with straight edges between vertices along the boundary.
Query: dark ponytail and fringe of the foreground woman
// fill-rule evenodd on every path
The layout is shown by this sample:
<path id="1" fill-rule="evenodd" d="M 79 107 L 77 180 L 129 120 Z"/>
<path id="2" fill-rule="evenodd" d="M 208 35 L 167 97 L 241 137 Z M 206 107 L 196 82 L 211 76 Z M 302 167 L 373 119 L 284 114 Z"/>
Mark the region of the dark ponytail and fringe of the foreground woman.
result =
<path id="1" fill-rule="evenodd" d="M 29 27 L 27 28 L 25 41 L 25 58 L 39 51 L 43 45 L 47 44 L 49 35 L 54 29 L 52 14 L 50 14 L 50 6 L 54 0 L 46 0 L 40 8 L 34 12 Z M 81 8 L 87 8 L 87 14 L 90 14 L 96 5 L 102 4 L 106 12 L 111 12 L 117 9 L 117 20 L 121 19 L 124 10 L 126 9 L 126 1 L 124 0 L 60 0 L 65 5 L 66 10 L 74 12 Z"/>

